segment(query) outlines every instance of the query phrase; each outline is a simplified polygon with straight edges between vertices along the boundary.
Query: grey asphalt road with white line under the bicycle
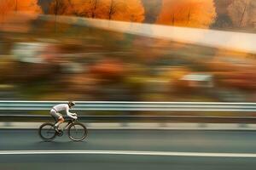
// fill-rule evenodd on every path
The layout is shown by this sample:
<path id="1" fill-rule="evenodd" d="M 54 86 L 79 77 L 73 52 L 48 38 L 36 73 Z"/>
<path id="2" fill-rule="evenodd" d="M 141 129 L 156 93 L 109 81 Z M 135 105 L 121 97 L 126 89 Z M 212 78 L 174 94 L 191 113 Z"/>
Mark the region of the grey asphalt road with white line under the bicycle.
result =
<path id="1" fill-rule="evenodd" d="M 255 153 L 253 131 L 90 130 L 84 142 L 42 142 L 35 130 L 0 130 L 1 170 L 255 169 Z"/>

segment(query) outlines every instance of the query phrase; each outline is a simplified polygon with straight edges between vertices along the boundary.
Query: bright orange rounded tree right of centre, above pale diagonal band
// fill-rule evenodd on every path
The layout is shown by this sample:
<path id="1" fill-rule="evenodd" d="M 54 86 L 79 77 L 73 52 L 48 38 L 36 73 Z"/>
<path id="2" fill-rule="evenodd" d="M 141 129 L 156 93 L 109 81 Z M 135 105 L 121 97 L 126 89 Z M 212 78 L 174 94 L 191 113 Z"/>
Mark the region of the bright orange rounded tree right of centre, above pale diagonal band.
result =
<path id="1" fill-rule="evenodd" d="M 208 28 L 215 21 L 213 0 L 163 0 L 157 23 Z"/>

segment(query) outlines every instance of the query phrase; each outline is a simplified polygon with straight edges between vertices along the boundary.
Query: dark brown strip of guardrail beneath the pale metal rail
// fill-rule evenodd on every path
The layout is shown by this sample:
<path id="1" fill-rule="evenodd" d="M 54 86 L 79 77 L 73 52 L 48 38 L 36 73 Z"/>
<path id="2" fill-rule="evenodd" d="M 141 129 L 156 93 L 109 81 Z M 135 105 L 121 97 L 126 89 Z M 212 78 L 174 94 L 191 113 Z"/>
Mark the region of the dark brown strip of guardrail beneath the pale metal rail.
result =
<path id="1" fill-rule="evenodd" d="M 46 115 L 0 115 L 0 122 L 54 122 Z M 255 123 L 256 116 L 79 116 L 79 122 Z"/>

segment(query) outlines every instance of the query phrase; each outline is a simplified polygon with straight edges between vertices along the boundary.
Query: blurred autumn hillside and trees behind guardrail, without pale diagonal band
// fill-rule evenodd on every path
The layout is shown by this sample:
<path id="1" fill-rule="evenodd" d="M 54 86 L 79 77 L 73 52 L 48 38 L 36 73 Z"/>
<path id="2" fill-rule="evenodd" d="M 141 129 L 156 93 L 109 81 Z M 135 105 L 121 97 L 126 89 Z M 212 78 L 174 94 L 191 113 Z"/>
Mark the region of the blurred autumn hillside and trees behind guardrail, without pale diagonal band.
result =
<path id="1" fill-rule="evenodd" d="M 255 54 L 60 15 L 256 32 L 255 0 L 0 0 L 0 99 L 256 102 Z"/>

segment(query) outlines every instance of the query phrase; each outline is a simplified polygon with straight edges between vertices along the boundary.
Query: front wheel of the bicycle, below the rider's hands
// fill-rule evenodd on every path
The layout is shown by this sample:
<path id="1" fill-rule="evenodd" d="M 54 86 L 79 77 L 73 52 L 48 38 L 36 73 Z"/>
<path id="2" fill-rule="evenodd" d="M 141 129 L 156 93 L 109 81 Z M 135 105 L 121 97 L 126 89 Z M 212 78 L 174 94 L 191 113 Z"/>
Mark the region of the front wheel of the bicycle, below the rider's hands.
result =
<path id="1" fill-rule="evenodd" d="M 74 122 L 67 128 L 67 134 L 73 141 L 82 141 L 87 136 L 87 129 L 84 124 Z"/>

